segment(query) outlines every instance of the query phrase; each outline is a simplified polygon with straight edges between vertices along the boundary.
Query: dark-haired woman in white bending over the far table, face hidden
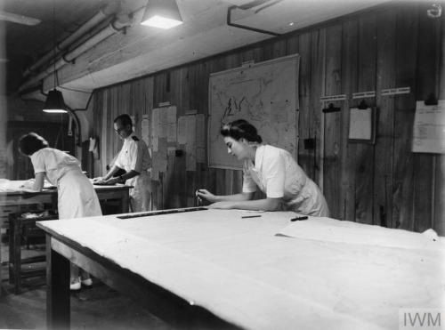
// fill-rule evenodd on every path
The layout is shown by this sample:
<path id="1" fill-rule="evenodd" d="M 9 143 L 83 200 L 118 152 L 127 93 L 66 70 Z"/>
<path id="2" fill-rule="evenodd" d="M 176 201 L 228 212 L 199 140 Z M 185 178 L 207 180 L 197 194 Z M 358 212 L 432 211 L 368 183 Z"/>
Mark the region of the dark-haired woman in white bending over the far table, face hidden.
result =
<path id="1" fill-rule="evenodd" d="M 58 192 L 59 219 L 73 219 L 102 215 L 101 205 L 93 184 L 80 168 L 77 158 L 59 150 L 48 148 L 48 142 L 36 133 L 28 133 L 20 138 L 20 152 L 31 158 L 36 179 L 30 189 L 41 191 L 46 178 Z M 80 273 L 80 276 L 79 276 Z M 80 289 L 82 284 L 91 286 L 88 273 L 71 264 L 71 290 Z"/>

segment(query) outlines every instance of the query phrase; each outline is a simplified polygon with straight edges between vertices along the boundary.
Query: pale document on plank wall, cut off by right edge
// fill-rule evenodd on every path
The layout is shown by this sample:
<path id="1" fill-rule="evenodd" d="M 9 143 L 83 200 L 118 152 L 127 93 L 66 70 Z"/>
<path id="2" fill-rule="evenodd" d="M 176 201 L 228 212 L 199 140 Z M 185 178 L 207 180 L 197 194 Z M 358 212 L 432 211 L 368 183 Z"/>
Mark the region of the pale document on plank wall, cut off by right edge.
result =
<path id="1" fill-rule="evenodd" d="M 445 154 L 445 100 L 431 106 L 417 101 L 413 152 Z"/>

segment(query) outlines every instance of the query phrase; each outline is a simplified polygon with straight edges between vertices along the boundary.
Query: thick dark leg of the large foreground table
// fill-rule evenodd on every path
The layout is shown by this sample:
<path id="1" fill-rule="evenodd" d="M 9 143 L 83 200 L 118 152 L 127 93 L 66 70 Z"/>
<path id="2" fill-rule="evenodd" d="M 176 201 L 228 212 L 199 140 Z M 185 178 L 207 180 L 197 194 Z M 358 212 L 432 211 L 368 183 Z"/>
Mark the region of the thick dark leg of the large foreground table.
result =
<path id="1" fill-rule="evenodd" d="M 46 235 L 46 327 L 69 329 L 69 260 L 51 248 Z"/>

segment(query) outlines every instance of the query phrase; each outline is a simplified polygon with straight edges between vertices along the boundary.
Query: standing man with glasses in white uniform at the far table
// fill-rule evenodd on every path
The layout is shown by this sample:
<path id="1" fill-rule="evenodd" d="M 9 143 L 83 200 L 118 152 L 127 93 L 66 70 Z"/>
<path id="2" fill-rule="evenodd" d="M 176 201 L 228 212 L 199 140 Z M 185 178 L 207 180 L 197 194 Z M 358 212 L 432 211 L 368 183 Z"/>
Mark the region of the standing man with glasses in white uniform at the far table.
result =
<path id="1" fill-rule="evenodd" d="M 124 145 L 117 155 L 114 165 L 104 177 L 94 178 L 93 183 L 125 183 L 130 189 L 130 208 L 132 212 L 150 211 L 151 181 L 148 169 L 151 167 L 149 149 L 144 141 L 134 135 L 132 118 L 126 114 L 114 120 L 114 130 Z M 119 170 L 125 173 L 115 177 Z"/>

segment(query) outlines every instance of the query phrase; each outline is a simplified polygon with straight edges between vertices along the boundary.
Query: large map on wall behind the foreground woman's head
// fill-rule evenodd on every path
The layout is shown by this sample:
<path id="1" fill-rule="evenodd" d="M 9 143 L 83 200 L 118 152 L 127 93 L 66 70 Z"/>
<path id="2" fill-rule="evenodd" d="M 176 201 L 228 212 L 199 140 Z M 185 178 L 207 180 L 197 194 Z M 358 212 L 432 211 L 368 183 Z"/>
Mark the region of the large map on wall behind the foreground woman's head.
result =
<path id="1" fill-rule="evenodd" d="M 255 125 L 263 142 L 296 159 L 299 55 L 289 55 L 210 75 L 208 165 L 240 169 L 227 153 L 220 129 L 236 119 Z"/>

